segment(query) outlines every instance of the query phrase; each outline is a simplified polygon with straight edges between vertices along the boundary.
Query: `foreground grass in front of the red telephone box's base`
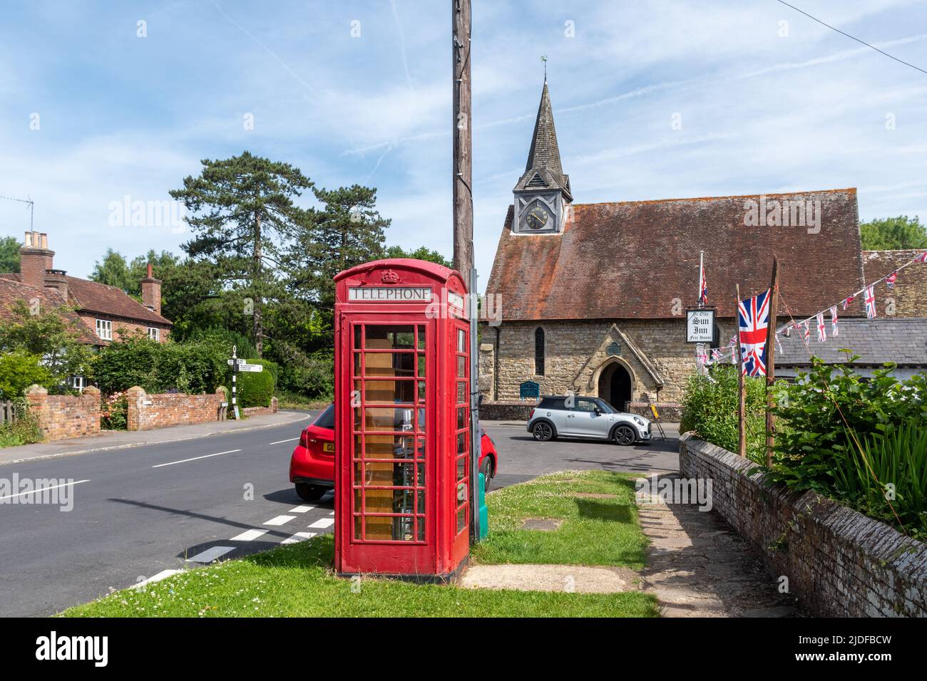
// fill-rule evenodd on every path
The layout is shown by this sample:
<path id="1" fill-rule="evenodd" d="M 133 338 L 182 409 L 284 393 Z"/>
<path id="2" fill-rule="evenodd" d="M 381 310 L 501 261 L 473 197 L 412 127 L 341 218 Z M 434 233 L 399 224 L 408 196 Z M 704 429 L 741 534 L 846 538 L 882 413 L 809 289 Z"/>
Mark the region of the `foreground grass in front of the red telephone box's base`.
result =
<path id="1" fill-rule="evenodd" d="M 655 617 L 654 597 L 493 591 L 332 574 L 331 535 L 175 574 L 66 617 Z"/>

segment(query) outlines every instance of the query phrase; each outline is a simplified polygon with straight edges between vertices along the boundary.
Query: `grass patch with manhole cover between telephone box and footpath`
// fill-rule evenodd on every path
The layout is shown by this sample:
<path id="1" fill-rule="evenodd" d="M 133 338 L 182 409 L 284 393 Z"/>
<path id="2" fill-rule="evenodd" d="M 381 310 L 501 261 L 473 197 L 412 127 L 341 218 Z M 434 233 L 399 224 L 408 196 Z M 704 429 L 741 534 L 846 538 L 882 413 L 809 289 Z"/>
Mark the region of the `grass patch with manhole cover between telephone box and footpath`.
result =
<path id="1" fill-rule="evenodd" d="M 648 540 L 634 502 L 637 477 L 608 471 L 552 473 L 493 492 L 487 497 L 489 536 L 473 549 L 473 557 L 483 563 L 641 569 Z M 562 524 L 552 531 L 519 529 L 526 518 Z"/>

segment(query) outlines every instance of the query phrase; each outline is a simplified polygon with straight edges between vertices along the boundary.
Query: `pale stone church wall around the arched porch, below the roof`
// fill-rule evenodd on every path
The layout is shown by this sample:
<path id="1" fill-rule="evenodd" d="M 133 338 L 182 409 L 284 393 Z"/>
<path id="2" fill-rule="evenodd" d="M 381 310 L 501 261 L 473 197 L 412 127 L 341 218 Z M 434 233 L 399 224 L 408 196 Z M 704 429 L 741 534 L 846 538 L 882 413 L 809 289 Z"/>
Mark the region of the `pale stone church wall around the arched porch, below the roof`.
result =
<path id="1" fill-rule="evenodd" d="M 732 320 L 719 320 L 721 345 L 733 334 Z M 534 332 L 545 334 L 545 372 L 534 372 Z M 498 341 L 496 332 L 499 332 Z M 620 332 L 617 333 L 617 332 Z M 624 334 L 625 338 L 621 338 Z M 629 341 L 626 342 L 626 341 Z M 617 342 L 620 355 L 609 355 Z M 497 347 L 498 346 L 498 347 Z M 639 358 L 634 348 L 641 354 Z M 498 352 L 498 361 L 494 355 Z M 600 373 L 613 361 L 631 375 L 631 400 L 679 402 L 695 368 L 695 347 L 685 342 L 685 319 L 579 320 L 571 322 L 502 322 L 484 327 L 480 344 L 480 392 L 487 399 L 518 399 L 525 381 L 540 384 L 542 395 L 598 395 Z M 657 393 L 652 372 L 663 379 Z M 498 375 L 494 372 L 498 371 Z"/>

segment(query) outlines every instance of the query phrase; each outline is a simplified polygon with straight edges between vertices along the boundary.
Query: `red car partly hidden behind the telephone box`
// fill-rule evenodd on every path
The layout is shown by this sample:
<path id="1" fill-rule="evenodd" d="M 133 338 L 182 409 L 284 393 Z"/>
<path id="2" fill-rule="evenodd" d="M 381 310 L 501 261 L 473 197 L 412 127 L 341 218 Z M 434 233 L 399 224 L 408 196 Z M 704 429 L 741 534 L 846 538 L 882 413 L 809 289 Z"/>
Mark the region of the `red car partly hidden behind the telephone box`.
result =
<path id="1" fill-rule="evenodd" d="M 482 453 L 479 472 L 486 476 L 486 487 L 499 470 L 499 454 L 485 431 L 481 431 Z M 335 405 L 331 404 L 299 435 L 299 444 L 290 457 L 290 482 L 299 498 L 317 501 L 335 488 Z"/>

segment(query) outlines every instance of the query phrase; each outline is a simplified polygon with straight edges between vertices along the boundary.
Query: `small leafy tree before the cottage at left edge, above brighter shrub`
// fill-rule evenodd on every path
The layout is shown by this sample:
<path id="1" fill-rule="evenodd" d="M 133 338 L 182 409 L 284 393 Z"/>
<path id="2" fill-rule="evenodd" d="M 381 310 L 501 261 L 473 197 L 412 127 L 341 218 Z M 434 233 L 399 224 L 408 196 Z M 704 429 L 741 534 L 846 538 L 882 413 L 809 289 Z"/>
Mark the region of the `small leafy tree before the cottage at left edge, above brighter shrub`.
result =
<path id="1" fill-rule="evenodd" d="M 61 308 L 42 309 L 31 314 L 24 300 L 11 310 L 12 322 L 0 327 L 0 353 L 21 352 L 42 358 L 50 375 L 50 390 L 63 391 L 70 376 L 86 376 L 93 350 L 80 338 L 81 322 L 69 320 Z"/>

